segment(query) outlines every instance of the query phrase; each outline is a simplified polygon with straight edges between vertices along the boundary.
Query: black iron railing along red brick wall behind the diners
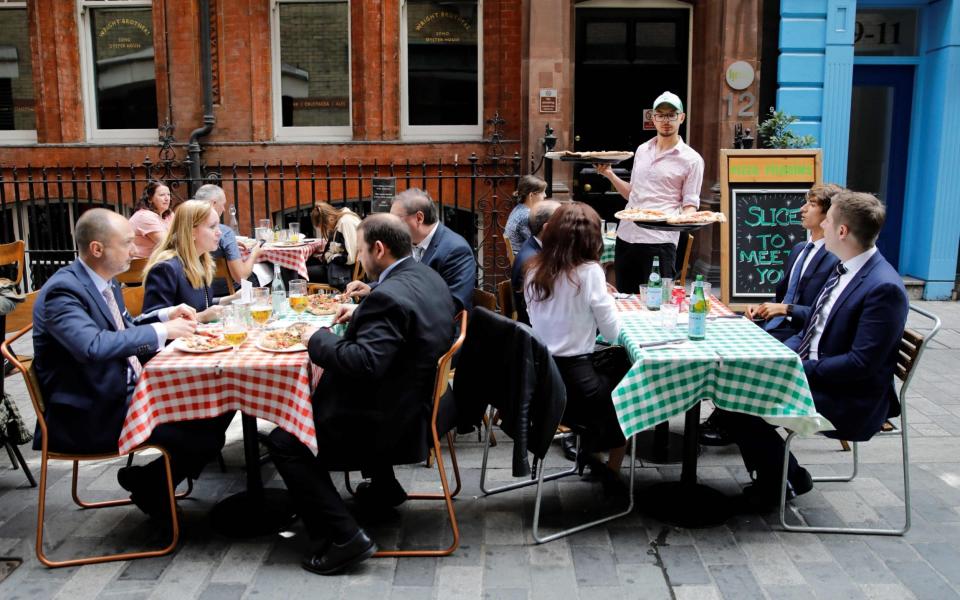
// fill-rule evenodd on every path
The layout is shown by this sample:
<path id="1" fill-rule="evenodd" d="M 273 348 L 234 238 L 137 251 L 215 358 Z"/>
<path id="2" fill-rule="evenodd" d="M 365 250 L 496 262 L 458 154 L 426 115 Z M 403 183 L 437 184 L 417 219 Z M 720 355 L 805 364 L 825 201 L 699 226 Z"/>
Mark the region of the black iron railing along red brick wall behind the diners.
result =
<path id="1" fill-rule="evenodd" d="M 375 178 L 393 178 L 397 192 L 425 189 L 443 207 L 444 223 L 474 248 L 478 287 L 494 291 L 509 276 L 502 234 L 520 162 L 515 154 L 471 155 L 466 162 L 216 164 L 206 166 L 204 179 L 224 188 L 240 232 L 248 235 L 265 217 L 281 226 L 300 221 L 302 230 L 310 231 L 309 215 L 317 202 L 348 205 L 366 215 Z M 39 289 L 75 258 L 73 228 L 83 211 L 106 207 L 129 216 L 152 179 L 169 185 L 174 204 L 189 199 L 193 186 L 183 167 L 149 159 L 126 166 L 0 165 L 0 242 L 26 241 L 26 287 Z"/>

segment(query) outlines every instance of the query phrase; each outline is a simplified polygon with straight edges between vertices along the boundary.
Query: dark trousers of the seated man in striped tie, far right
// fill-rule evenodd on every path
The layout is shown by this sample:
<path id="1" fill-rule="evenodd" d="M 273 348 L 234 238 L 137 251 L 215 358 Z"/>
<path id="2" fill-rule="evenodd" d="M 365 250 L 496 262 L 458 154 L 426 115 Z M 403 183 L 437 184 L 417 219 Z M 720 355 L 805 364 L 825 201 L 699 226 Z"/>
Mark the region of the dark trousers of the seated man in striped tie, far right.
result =
<path id="1" fill-rule="evenodd" d="M 784 441 L 777 428 L 760 417 L 740 412 L 717 409 L 718 424 L 740 448 L 747 471 L 756 472 L 760 485 L 779 485 L 783 470 Z M 787 479 L 795 481 L 800 465 L 790 454 Z"/>

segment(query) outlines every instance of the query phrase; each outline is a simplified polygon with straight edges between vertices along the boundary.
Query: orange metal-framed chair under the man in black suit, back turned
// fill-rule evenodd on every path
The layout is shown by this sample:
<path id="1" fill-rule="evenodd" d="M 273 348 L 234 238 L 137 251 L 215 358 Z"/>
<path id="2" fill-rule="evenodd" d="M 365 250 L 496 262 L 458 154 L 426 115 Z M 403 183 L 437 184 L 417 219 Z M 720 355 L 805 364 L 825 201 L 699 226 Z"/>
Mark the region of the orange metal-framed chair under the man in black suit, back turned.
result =
<path id="1" fill-rule="evenodd" d="M 453 465 L 453 477 L 457 482 L 457 487 L 450 491 L 450 483 L 447 481 L 447 470 L 443 464 L 443 451 L 440 448 L 440 432 L 437 431 L 437 416 L 440 413 L 440 400 L 447 393 L 450 387 L 450 364 L 453 356 L 460 351 L 463 340 L 467 337 L 467 311 L 462 310 L 457 315 L 457 321 L 460 322 L 460 335 L 456 341 L 447 350 L 447 353 L 437 361 L 437 376 L 433 384 L 433 413 L 430 416 L 430 434 L 432 440 L 432 452 L 436 457 L 437 471 L 440 475 L 440 485 L 443 488 L 441 494 L 409 494 L 410 500 L 443 500 L 447 508 L 447 516 L 450 519 L 450 530 L 453 534 L 453 541 L 446 548 L 430 550 L 380 550 L 375 557 L 428 557 L 428 556 L 449 556 L 460 546 L 460 528 L 457 525 L 457 513 L 453 508 L 453 499 L 460 493 L 460 465 L 457 463 L 457 451 L 453 445 L 453 430 L 446 432 L 447 447 L 450 449 L 450 463 Z M 347 489 L 353 492 L 350 485 L 350 474 L 346 473 Z"/>

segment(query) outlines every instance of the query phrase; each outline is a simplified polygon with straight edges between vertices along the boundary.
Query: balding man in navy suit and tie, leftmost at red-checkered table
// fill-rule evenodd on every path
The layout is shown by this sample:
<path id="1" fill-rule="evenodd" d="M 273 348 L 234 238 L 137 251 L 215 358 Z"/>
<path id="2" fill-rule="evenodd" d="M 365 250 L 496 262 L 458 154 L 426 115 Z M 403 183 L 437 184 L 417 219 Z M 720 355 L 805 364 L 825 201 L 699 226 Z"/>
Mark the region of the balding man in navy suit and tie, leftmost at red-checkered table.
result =
<path id="1" fill-rule="evenodd" d="M 116 452 L 142 362 L 168 339 L 193 333 L 196 312 L 186 305 L 132 319 L 114 277 L 130 266 L 133 229 L 102 208 L 77 221 L 79 259 L 57 271 L 33 309 L 34 367 L 46 402 L 53 452 Z M 162 425 L 148 443 L 171 455 L 176 481 L 196 477 L 223 445 L 229 424 L 217 419 Z M 39 428 L 35 448 L 39 449 Z M 165 471 L 157 459 L 121 469 L 121 485 L 151 516 L 166 516 Z"/>

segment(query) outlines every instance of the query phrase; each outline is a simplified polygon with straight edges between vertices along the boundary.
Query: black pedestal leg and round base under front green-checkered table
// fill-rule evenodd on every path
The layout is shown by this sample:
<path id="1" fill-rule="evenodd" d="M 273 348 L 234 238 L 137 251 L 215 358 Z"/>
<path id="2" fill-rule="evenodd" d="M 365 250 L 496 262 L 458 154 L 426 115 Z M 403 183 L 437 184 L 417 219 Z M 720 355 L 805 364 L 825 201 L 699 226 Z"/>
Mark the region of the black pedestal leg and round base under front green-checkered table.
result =
<path id="1" fill-rule="evenodd" d="M 658 483 L 641 493 L 641 510 L 665 523 L 681 527 L 713 527 L 733 516 L 730 498 L 708 485 L 697 483 L 697 455 L 700 452 L 700 403 L 687 410 L 684 418 L 683 470 L 680 481 Z"/>

